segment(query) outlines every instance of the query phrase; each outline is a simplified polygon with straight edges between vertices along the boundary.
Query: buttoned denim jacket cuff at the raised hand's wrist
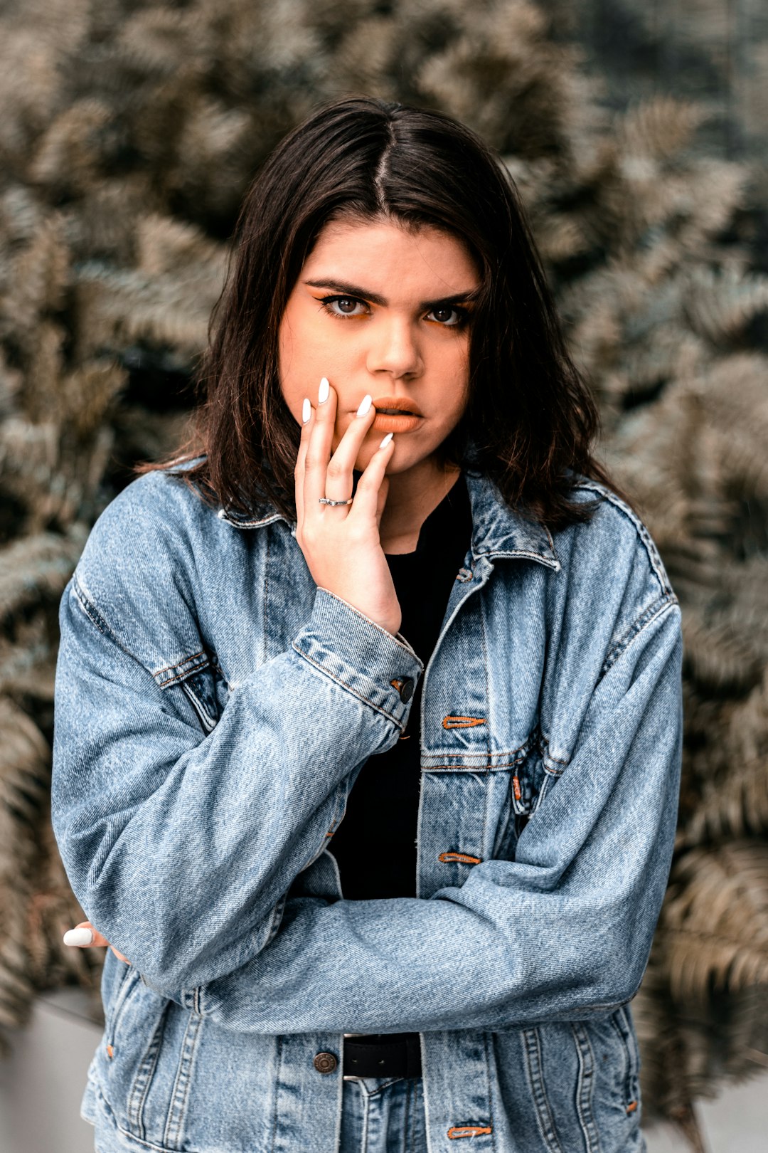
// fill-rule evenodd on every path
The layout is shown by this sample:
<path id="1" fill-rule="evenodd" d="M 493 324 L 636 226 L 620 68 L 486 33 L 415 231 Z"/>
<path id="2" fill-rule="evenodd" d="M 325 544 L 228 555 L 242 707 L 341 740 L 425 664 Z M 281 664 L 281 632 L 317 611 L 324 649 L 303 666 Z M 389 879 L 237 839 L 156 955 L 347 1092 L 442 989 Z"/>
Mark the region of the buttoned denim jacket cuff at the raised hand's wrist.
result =
<path id="1" fill-rule="evenodd" d="M 318 588 L 294 648 L 336 684 L 405 728 L 424 665 L 413 649 L 328 589 Z"/>

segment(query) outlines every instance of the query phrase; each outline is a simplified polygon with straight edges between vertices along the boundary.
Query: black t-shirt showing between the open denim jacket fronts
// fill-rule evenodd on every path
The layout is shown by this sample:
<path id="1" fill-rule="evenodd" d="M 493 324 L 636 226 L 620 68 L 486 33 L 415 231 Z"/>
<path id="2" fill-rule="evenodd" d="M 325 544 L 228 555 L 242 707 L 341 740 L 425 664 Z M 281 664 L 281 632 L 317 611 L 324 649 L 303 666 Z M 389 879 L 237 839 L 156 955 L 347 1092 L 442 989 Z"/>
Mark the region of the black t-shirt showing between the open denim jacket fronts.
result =
<path id="1" fill-rule="evenodd" d="M 424 662 L 440 635 L 448 597 L 472 536 L 463 475 L 419 532 L 415 552 L 387 555 L 403 611 L 400 631 Z M 370 756 L 329 841 L 349 900 L 416 896 L 416 832 L 421 783 L 421 678 L 408 726 L 393 748 Z"/>

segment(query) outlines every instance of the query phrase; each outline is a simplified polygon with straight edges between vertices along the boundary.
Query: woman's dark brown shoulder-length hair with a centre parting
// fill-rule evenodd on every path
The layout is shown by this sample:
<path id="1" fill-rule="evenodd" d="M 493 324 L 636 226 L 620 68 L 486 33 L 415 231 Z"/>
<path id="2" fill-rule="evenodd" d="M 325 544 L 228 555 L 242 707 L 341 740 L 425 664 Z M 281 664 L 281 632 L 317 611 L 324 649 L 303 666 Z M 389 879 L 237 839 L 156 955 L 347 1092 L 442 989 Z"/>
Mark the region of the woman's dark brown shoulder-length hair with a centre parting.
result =
<path id="1" fill-rule="evenodd" d="M 195 435 L 173 461 L 187 462 L 185 480 L 228 510 L 266 498 L 295 518 L 299 427 L 280 387 L 277 330 L 320 232 L 340 217 L 435 227 L 466 244 L 481 278 L 469 400 L 441 457 L 485 473 L 509 505 L 552 528 L 587 519 L 592 506 L 569 496 L 578 474 L 616 487 L 592 457 L 598 412 L 512 179 L 449 116 L 367 97 L 295 128 L 245 196 L 197 374 Z"/>

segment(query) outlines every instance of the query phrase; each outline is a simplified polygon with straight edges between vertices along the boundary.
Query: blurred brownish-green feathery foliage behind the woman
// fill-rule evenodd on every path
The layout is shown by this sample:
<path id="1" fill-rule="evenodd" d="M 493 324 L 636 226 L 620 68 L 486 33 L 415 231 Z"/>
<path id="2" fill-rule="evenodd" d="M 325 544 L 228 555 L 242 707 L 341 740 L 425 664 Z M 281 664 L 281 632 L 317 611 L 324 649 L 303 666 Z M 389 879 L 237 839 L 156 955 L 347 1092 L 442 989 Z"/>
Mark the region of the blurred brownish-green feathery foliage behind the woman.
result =
<path id="1" fill-rule="evenodd" d="M 0 1026 L 94 986 L 50 832 L 58 598 L 130 466 L 181 435 L 225 240 L 273 144 L 364 91 L 478 129 L 518 181 L 577 357 L 680 597 L 686 739 L 668 902 L 636 1002 L 646 1101 L 768 1046 L 768 279 L 746 165 L 704 113 L 609 114 L 529 0 L 15 0 L 0 16 Z M 756 1055 L 756 1056 L 755 1056 Z"/>

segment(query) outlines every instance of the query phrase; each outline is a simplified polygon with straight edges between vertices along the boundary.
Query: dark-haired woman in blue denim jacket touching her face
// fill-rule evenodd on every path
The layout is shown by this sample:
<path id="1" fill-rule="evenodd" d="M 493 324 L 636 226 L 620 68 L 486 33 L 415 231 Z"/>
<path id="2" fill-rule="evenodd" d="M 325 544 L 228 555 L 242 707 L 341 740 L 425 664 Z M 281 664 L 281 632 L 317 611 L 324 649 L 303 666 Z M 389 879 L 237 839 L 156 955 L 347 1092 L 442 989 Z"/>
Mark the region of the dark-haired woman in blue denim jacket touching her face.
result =
<path id="1" fill-rule="evenodd" d="M 99 1153 L 641 1150 L 679 612 L 495 157 L 401 105 L 311 116 L 203 377 L 197 455 L 62 601 Z"/>

